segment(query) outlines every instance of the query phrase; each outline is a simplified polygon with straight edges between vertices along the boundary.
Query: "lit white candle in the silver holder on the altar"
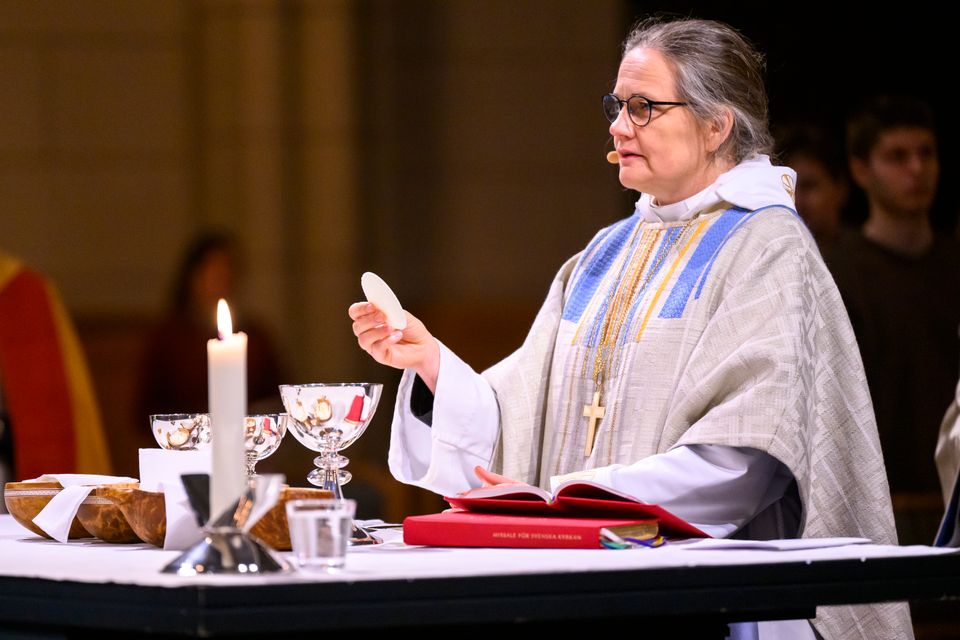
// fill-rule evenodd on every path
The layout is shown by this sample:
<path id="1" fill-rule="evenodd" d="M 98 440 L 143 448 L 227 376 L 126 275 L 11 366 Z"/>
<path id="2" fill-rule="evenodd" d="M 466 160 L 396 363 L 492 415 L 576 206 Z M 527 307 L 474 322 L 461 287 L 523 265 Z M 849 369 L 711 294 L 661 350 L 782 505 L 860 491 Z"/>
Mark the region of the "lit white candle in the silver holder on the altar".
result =
<path id="1" fill-rule="evenodd" d="M 217 303 L 219 339 L 207 341 L 207 383 L 213 474 L 210 518 L 236 502 L 246 486 L 244 418 L 247 415 L 247 334 L 233 333 L 230 308 Z"/>

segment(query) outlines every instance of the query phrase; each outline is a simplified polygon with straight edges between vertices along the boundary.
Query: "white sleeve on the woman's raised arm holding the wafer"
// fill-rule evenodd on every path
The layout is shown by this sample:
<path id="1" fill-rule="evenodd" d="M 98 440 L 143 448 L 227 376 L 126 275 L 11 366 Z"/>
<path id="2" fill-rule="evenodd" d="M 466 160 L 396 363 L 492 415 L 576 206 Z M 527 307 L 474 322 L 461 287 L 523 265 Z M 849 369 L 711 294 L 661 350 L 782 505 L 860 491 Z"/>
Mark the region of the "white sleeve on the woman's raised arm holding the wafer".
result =
<path id="1" fill-rule="evenodd" d="M 416 374 L 404 371 L 390 431 L 390 472 L 400 482 L 452 496 L 480 486 L 473 470 L 489 468 L 500 431 L 490 384 L 440 343 L 433 426 L 410 410 Z"/>

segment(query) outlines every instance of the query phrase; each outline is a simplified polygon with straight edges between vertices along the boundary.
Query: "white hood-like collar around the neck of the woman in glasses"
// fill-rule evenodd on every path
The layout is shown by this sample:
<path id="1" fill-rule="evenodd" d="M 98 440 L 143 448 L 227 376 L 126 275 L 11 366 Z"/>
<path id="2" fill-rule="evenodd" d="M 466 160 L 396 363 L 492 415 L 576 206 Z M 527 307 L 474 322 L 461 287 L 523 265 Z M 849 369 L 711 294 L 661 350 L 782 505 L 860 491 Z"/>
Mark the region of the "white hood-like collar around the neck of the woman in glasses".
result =
<path id="1" fill-rule="evenodd" d="M 720 202 L 750 211 L 770 205 L 793 209 L 796 183 L 793 169 L 774 166 L 769 156 L 756 155 L 722 173 L 713 184 L 686 200 L 658 205 L 650 194 L 644 193 L 637 200 L 636 211 L 645 222 L 678 222 Z"/>

